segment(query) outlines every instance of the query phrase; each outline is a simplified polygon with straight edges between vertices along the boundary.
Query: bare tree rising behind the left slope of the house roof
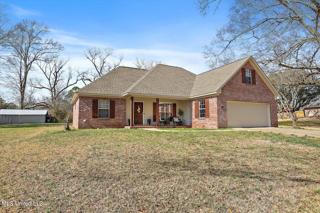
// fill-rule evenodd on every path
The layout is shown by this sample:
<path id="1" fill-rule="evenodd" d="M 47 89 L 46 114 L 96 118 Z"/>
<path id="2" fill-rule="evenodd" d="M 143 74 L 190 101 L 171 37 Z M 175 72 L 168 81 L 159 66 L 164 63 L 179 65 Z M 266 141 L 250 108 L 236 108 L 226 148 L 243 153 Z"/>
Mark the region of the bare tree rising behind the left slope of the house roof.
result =
<path id="1" fill-rule="evenodd" d="M 84 56 L 94 67 L 93 71 L 87 70 L 86 72 L 83 72 L 82 81 L 84 84 L 86 84 L 87 81 L 92 82 L 118 67 L 123 59 L 123 55 L 119 55 L 117 60 L 109 61 L 110 57 L 116 58 L 113 55 L 113 49 L 111 48 L 100 49 L 98 47 L 90 47 L 84 51 Z"/>

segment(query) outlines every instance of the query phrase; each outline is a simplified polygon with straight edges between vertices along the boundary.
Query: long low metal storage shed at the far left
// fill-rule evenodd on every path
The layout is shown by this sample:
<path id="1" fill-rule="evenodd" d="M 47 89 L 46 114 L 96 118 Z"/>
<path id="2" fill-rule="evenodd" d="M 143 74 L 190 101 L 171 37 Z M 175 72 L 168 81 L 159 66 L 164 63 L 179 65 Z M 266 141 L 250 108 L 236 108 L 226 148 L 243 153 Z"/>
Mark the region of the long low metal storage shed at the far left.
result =
<path id="1" fill-rule="evenodd" d="M 0 109 L 0 124 L 45 123 L 47 110 Z"/>

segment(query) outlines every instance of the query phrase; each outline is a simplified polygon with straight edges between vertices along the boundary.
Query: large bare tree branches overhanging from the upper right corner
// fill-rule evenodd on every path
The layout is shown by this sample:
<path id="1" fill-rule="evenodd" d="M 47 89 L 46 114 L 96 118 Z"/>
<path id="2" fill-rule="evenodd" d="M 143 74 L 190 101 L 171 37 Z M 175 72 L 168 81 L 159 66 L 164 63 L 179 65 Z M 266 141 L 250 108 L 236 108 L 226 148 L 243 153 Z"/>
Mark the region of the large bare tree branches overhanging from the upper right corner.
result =
<path id="1" fill-rule="evenodd" d="M 196 5 L 205 16 L 210 5 L 215 11 L 220 2 L 197 0 Z M 318 0 L 235 0 L 228 18 L 211 44 L 204 47 L 210 66 L 220 65 L 219 60 L 230 54 L 236 59 L 254 55 L 266 71 L 304 70 L 307 75 L 320 74 Z"/>

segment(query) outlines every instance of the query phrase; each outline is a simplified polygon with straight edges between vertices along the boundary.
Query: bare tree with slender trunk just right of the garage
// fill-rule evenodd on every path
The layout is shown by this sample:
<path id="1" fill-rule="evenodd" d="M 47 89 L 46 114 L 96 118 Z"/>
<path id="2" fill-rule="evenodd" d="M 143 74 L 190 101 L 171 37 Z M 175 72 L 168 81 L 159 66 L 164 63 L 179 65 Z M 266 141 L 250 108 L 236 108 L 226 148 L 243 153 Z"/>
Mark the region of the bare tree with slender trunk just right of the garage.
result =
<path id="1" fill-rule="evenodd" d="M 292 119 L 292 126 L 296 127 L 299 117 L 296 117 L 295 111 L 320 98 L 320 86 L 314 85 L 319 83 L 318 80 L 314 76 L 308 76 L 308 72 L 303 70 L 272 73 L 269 79 L 281 95 L 281 99 L 278 100 L 279 112 L 288 113 Z M 301 85 L 301 81 L 311 85 Z"/>

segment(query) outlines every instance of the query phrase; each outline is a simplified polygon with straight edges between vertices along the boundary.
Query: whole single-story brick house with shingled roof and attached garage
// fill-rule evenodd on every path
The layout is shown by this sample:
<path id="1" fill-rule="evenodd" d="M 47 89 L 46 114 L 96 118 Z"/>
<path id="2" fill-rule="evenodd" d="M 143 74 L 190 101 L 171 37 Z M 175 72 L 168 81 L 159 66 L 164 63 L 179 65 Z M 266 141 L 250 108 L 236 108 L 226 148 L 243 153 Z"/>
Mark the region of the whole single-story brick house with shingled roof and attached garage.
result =
<path id="1" fill-rule="evenodd" d="M 182 125 L 192 128 L 277 127 L 278 97 L 252 56 L 198 75 L 162 64 L 117 67 L 75 92 L 72 125 L 123 128 L 151 119 L 158 126 L 156 118 L 182 109 Z"/>

